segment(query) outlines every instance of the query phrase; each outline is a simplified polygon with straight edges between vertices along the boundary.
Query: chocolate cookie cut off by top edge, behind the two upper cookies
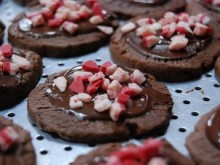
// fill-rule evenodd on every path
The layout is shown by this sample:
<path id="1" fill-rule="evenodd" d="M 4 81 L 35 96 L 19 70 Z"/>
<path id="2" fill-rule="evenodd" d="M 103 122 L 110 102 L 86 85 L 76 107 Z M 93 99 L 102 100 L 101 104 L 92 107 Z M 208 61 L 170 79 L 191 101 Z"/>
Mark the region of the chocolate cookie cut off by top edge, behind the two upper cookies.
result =
<path id="1" fill-rule="evenodd" d="M 98 2 L 104 9 L 122 18 L 143 14 L 160 18 L 167 11 L 183 11 L 186 5 L 185 0 L 179 0 L 178 3 L 175 0 L 98 0 Z"/>

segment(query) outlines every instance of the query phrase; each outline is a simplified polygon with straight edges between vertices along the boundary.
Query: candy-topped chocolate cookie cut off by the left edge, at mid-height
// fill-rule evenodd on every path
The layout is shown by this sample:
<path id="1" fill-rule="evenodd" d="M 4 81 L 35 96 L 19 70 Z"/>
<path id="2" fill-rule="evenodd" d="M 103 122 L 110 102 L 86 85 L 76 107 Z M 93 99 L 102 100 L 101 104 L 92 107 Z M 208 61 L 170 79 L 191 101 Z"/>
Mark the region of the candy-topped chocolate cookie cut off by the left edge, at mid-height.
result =
<path id="1" fill-rule="evenodd" d="M 24 99 L 38 83 L 42 61 L 32 51 L 0 47 L 0 108 L 12 106 Z"/>

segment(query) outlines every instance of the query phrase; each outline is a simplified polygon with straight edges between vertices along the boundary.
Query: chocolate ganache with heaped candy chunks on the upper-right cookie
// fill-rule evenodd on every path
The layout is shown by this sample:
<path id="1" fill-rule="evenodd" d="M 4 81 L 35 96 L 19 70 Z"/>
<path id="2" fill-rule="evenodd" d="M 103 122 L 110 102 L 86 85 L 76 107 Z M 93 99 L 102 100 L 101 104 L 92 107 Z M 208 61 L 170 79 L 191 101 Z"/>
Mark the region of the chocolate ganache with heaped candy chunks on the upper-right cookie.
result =
<path id="1" fill-rule="evenodd" d="M 182 60 L 195 56 L 211 39 L 210 18 L 167 12 L 164 18 L 140 18 L 125 24 L 121 31 L 126 43 L 146 58 Z"/>

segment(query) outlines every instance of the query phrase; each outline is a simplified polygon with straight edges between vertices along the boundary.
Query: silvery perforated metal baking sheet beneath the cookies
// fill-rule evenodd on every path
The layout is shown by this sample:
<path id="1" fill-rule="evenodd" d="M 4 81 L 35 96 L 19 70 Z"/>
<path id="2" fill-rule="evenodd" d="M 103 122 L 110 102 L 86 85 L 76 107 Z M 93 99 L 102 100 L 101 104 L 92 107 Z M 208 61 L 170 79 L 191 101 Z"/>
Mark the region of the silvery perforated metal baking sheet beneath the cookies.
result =
<path id="1" fill-rule="evenodd" d="M 0 5 L 0 19 L 8 27 L 23 7 L 12 0 L 3 0 Z M 6 33 L 5 33 L 6 34 Z M 5 35 L 7 42 L 7 34 Z M 102 64 L 111 60 L 108 47 L 85 56 L 68 59 L 43 58 L 44 68 L 40 82 L 48 75 L 76 66 L 92 59 Z M 220 84 L 214 77 L 214 71 L 204 74 L 199 80 L 187 83 L 166 83 L 174 100 L 173 116 L 164 136 L 182 154 L 188 156 L 184 146 L 186 136 L 194 129 L 200 116 L 220 103 Z M 0 111 L 0 115 L 12 119 L 15 123 L 30 131 L 36 150 L 38 165 L 67 165 L 79 154 L 84 154 L 96 146 L 72 143 L 38 129 L 27 114 L 27 100 L 13 108 Z M 129 142 L 140 143 L 131 139 Z"/>

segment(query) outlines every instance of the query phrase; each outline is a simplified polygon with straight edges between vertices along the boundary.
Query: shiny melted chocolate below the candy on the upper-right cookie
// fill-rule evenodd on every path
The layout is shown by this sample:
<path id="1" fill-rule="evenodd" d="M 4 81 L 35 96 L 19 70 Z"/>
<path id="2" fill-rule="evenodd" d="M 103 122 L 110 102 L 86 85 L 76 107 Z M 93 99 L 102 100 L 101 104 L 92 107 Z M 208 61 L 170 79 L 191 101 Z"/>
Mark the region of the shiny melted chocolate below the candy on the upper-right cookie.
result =
<path id="1" fill-rule="evenodd" d="M 147 58 L 150 57 L 158 60 L 172 61 L 187 59 L 195 56 L 196 53 L 205 48 L 211 40 L 210 36 L 198 38 L 191 35 L 188 36 L 189 43 L 184 49 L 179 51 L 171 51 L 169 50 L 170 41 L 162 36 L 159 36 L 159 38 L 160 41 L 153 48 L 145 48 L 141 43 L 142 39 L 138 37 L 134 31 L 127 34 L 126 41 L 133 49 L 135 49 L 135 51 Z"/>

